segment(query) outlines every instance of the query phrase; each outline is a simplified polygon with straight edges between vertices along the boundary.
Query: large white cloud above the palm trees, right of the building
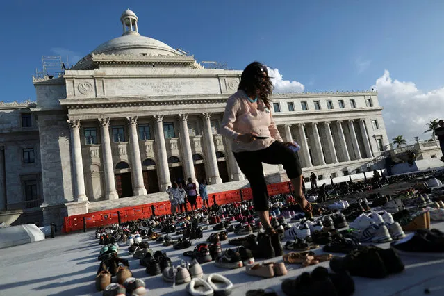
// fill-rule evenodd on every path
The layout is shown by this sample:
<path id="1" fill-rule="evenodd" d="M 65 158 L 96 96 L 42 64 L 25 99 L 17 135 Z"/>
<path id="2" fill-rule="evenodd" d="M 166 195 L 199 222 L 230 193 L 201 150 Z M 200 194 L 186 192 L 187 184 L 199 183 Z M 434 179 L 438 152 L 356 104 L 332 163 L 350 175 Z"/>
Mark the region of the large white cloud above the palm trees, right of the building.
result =
<path id="1" fill-rule="evenodd" d="M 403 135 L 408 142 L 419 136 L 431 138 L 427 122 L 444 115 L 444 88 L 423 92 L 411 81 L 397 81 L 388 70 L 372 86 L 378 91 L 379 105 L 384 107 L 382 115 L 388 138 Z"/>

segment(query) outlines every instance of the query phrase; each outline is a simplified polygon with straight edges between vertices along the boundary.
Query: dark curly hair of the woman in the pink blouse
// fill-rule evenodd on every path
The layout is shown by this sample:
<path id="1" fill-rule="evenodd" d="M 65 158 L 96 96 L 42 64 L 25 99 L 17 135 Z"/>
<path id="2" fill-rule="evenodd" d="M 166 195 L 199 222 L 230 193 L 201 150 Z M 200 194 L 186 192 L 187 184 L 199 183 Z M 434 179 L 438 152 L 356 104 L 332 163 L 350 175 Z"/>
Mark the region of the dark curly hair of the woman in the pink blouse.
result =
<path id="1" fill-rule="evenodd" d="M 263 73 L 267 74 L 267 78 L 263 78 Z M 273 91 L 273 85 L 268 76 L 268 70 L 265 65 L 259 62 L 249 64 L 240 76 L 238 90 L 243 90 L 249 97 L 259 97 L 263 103 L 270 107 L 269 97 Z"/>

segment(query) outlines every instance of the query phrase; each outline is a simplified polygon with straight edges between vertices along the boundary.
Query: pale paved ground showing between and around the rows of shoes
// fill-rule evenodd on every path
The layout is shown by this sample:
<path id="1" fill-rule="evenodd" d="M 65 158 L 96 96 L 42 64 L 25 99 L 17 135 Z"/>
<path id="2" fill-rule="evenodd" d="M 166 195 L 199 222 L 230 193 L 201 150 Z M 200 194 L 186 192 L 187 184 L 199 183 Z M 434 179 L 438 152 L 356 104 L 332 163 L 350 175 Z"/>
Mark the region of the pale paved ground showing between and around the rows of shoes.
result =
<path id="1" fill-rule="evenodd" d="M 394 188 L 383 190 L 388 189 L 394 190 Z M 433 227 L 444 231 L 444 223 L 434 224 Z M 211 231 L 204 231 L 204 238 L 199 242 L 204 241 L 209 233 Z M 235 234 L 229 233 L 229 238 L 234 237 Z M 193 242 L 190 249 L 193 249 L 196 243 Z M 172 247 L 162 247 L 156 242 L 151 247 L 154 250 L 162 249 L 163 252 L 167 252 L 175 265 L 180 263 L 181 258 L 185 258 L 181 256 L 183 250 L 176 251 Z M 227 242 L 222 244 L 222 248 L 224 247 L 229 247 Z M 381 247 L 388 247 L 388 244 L 383 244 Z M 0 295 L 101 295 L 94 288 L 94 277 L 99 265 L 97 261 L 99 249 L 93 231 L 1 249 Z M 128 258 L 134 276 L 145 281 L 149 288 L 147 295 L 186 295 L 185 285 L 172 288 L 172 285 L 165 283 L 161 276 L 149 277 L 145 274 L 145 268 L 128 254 L 126 246 L 120 249 L 120 256 Z M 281 261 L 281 258 L 275 260 Z M 431 295 L 444 295 L 442 284 L 444 254 L 442 259 L 402 256 L 402 260 L 406 265 L 406 270 L 402 274 L 386 279 L 354 277 L 356 284 L 354 295 L 423 295 L 426 288 L 431 291 Z M 328 263 L 322 265 L 328 266 Z M 245 295 L 247 290 L 268 287 L 283 295 L 280 287 L 283 279 L 295 278 L 298 274 L 315 268 L 287 265 L 288 274 L 285 277 L 260 279 L 245 274 L 244 268 L 226 270 L 217 268 L 213 263 L 206 263 L 202 267 L 206 274 L 219 272 L 233 281 L 235 285 L 233 295 Z"/>

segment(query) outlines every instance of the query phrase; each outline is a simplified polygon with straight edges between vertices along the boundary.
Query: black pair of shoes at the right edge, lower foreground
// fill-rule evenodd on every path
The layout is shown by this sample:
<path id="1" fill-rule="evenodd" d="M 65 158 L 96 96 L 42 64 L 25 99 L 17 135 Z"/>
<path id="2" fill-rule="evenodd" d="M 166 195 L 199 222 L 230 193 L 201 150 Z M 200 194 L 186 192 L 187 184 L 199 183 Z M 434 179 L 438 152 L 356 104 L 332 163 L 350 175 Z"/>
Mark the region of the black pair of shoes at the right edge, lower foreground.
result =
<path id="1" fill-rule="evenodd" d="M 444 233 L 438 229 L 418 229 L 390 247 L 400 254 L 419 254 L 424 256 L 444 256 Z"/>

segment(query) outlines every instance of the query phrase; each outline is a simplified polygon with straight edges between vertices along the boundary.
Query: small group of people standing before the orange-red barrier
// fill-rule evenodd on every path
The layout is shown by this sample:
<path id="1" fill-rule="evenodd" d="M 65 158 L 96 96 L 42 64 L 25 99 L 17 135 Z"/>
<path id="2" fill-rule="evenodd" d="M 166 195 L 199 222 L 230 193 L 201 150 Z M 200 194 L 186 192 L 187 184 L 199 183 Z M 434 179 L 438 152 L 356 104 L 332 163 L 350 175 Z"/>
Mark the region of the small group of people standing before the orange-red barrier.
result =
<path id="1" fill-rule="evenodd" d="M 185 188 L 182 186 L 182 183 L 178 184 L 176 182 L 172 182 L 172 186 L 168 186 L 167 188 L 167 193 L 170 199 L 172 213 L 188 212 L 188 203 L 190 204 L 191 211 L 193 209 L 197 210 L 197 186 L 191 178 L 188 178 L 188 183 L 186 184 Z M 209 207 L 205 179 L 199 183 L 199 195 L 204 203 L 204 206 L 206 205 Z"/>

